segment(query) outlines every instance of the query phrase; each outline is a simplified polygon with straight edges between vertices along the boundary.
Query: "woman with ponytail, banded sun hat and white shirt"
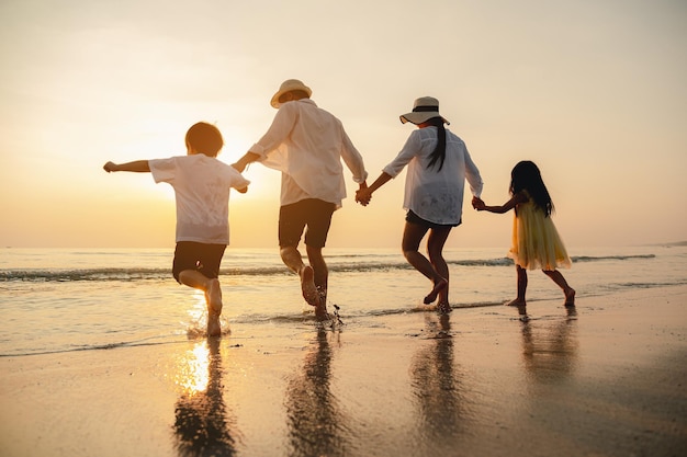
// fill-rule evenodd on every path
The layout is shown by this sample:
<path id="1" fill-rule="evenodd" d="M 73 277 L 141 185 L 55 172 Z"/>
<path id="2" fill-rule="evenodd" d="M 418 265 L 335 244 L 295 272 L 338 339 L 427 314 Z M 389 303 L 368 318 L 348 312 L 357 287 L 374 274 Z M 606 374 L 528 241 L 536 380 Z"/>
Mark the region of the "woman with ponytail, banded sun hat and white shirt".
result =
<path id="1" fill-rule="evenodd" d="M 396 178 L 408 165 L 403 207 L 407 210 L 403 232 L 403 254 L 410 265 L 432 282 L 424 302 L 437 299 L 436 309 L 450 312 L 449 269 L 443 259 L 443 245 L 453 227 L 461 224 L 465 180 L 475 197 L 482 193 L 480 170 L 472 161 L 462 139 L 447 130 L 449 122 L 439 114 L 439 101 L 431 96 L 415 100 L 413 112 L 401 116 L 401 122 L 418 126 L 408 137 L 398 156 L 368 188 L 356 194 L 356 199 L 368 205 L 372 193 Z M 429 232 L 427 253 L 419 244 Z"/>

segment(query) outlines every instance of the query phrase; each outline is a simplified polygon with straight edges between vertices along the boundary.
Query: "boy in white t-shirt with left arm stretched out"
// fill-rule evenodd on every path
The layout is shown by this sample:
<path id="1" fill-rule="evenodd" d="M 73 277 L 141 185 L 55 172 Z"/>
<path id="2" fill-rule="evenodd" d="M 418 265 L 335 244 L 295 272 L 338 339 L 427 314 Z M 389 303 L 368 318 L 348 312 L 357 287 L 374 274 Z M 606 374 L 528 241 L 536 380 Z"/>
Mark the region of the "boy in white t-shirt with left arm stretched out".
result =
<path id="1" fill-rule="evenodd" d="M 150 172 L 156 183 L 174 188 L 177 201 L 177 248 L 172 274 L 187 286 L 205 293 L 207 335 L 219 336 L 222 288 L 219 263 L 229 243 L 229 190 L 248 191 L 250 181 L 233 167 L 217 160 L 224 146 L 214 125 L 198 123 L 185 137 L 187 156 L 169 159 L 108 162 L 112 171 Z"/>

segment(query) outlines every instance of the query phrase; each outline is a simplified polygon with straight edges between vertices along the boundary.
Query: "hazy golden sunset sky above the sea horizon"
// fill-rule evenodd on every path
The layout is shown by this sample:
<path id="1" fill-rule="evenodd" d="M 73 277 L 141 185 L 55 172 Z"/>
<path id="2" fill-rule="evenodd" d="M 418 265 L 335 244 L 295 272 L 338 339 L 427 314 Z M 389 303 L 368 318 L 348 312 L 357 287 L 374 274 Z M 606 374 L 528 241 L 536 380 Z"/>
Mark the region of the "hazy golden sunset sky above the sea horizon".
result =
<path id="1" fill-rule="evenodd" d="M 2 247 L 173 245 L 171 188 L 103 163 L 183 155 L 199 121 L 232 163 L 289 78 L 341 119 L 369 182 L 432 95 L 488 204 L 530 159 L 568 248 L 687 239 L 684 0 L 1 0 L 0 22 Z M 280 175 L 245 174 L 232 245 L 274 247 Z M 405 172 L 367 208 L 346 179 L 328 247 L 398 245 Z M 468 193 L 449 245 L 506 249 L 511 217 Z"/>

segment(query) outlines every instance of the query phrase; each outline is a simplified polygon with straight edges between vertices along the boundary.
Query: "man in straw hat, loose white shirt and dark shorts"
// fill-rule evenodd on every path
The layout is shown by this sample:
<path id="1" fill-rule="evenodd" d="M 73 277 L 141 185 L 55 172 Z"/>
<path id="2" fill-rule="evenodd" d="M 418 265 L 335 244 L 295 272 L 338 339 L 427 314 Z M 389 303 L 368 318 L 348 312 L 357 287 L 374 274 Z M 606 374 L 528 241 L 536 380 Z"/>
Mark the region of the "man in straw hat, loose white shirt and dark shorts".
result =
<path id="1" fill-rule="evenodd" d="M 319 108 L 303 82 L 284 81 L 270 102 L 279 110 L 272 125 L 234 168 L 243 172 L 248 163 L 259 161 L 282 172 L 280 254 L 284 264 L 299 274 L 303 298 L 315 307 L 316 317 L 326 319 L 329 273 L 322 249 L 331 215 L 346 197 L 341 159 L 359 188 L 367 187 L 368 172 L 341 122 Z M 297 249 L 304 230 L 309 265 Z"/>

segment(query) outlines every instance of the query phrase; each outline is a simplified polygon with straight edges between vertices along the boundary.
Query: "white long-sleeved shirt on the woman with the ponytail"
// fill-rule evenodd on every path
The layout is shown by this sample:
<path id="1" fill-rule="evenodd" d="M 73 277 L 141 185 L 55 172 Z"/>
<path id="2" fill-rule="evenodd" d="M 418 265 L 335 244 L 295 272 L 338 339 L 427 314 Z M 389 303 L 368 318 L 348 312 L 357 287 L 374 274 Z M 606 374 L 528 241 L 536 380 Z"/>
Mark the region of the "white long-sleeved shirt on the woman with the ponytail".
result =
<path id="1" fill-rule="evenodd" d="M 465 180 L 475 196 L 482 193 L 480 170 L 472 161 L 465 144 L 446 130 L 446 160 L 428 169 L 437 145 L 437 127 L 413 130 L 398 156 L 384 168 L 392 178 L 408 165 L 403 207 L 435 224 L 459 224 L 463 214 Z"/>

